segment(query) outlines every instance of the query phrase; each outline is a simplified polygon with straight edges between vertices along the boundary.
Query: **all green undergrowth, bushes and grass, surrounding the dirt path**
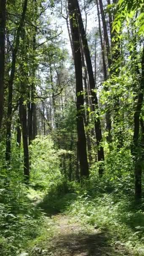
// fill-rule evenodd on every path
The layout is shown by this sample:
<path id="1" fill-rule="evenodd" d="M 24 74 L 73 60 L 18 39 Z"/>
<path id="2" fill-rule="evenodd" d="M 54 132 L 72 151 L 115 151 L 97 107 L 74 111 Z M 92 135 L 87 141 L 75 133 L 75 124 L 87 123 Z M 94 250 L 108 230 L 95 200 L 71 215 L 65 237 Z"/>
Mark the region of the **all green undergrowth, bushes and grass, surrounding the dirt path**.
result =
<path id="1" fill-rule="evenodd" d="M 0 256 L 47 255 L 43 245 L 53 238 L 59 213 L 85 228 L 105 230 L 111 245 L 120 243 L 133 255 L 144 255 L 144 205 L 133 200 L 129 151 L 126 155 L 122 150 L 109 153 L 103 178 L 99 179 L 97 165 L 93 165 L 89 180 L 80 184 L 61 174 L 59 152 L 51 138 L 37 137 L 30 149 L 31 179 L 26 185 L 17 150 L 13 149 L 9 172 L 1 151 Z"/>

